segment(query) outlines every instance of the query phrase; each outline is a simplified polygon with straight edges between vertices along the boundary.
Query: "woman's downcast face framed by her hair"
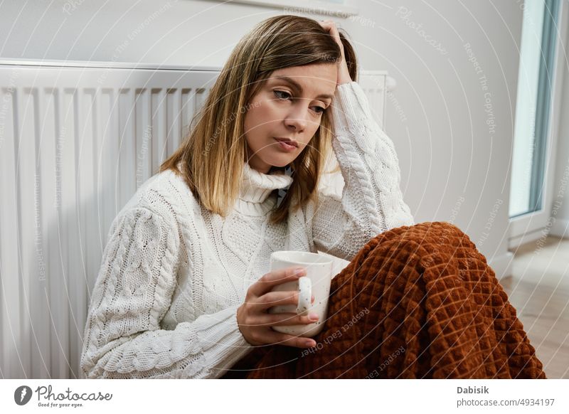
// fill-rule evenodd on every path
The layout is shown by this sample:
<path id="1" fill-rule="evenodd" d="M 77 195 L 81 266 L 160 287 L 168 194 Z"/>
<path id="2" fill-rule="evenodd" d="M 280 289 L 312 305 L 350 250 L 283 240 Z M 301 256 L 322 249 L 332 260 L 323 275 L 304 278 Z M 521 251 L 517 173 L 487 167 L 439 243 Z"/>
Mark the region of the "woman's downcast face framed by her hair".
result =
<path id="1" fill-rule="evenodd" d="M 336 75 L 334 63 L 294 66 L 270 75 L 245 114 L 252 169 L 267 174 L 271 166 L 286 166 L 299 156 L 331 104 Z M 293 145 L 279 143 L 287 139 Z"/>

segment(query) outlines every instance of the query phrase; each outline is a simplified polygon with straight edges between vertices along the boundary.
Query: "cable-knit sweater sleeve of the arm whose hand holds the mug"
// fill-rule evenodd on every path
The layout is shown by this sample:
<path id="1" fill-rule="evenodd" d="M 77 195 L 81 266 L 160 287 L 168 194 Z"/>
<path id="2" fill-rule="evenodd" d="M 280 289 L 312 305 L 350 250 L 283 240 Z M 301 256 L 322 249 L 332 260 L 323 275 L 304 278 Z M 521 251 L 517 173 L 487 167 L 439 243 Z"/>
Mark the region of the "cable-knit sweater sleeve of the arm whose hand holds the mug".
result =
<path id="1" fill-rule="evenodd" d="M 86 378 L 218 378 L 252 349 L 237 306 L 160 329 L 176 287 L 172 220 L 139 206 L 115 218 L 87 315 Z"/>

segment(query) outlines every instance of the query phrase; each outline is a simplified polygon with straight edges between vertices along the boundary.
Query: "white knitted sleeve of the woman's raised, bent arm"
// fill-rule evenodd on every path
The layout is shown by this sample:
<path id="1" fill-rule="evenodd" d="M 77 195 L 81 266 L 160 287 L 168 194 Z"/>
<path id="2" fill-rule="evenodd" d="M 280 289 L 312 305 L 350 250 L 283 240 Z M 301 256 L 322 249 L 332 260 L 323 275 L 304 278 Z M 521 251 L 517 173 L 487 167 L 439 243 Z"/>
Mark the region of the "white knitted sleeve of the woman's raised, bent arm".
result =
<path id="1" fill-rule="evenodd" d="M 319 193 L 312 217 L 317 250 L 352 260 L 371 238 L 413 225 L 400 190 L 400 169 L 391 139 L 373 119 L 356 82 L 336 87 L 332 148 L 344 178 L 341 199 Z"/>

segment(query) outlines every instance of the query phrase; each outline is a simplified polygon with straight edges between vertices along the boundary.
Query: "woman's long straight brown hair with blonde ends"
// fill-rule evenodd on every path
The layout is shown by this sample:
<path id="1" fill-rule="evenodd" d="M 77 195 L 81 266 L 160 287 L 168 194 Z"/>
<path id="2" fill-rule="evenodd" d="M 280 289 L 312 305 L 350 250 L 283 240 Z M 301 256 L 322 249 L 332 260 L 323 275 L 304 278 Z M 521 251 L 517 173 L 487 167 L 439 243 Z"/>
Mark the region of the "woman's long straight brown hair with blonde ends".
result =
<path id="1" fill-rule="evenodd" d="M 339 32 L 351 79 L 357 81 L 356 54 L 346 35 Z M 247 161 L 244 120 L 252 97 L 274 70 L 336 65 L 340 58 L 334 38 L 311 18 L 281 15 L 260 22 L 235 46 L 206 102 L 194 115 L 188 136 L 159 171 L 171 169 L 181 175 L 202 206 L 227 216 L 239 196 Z M 332 151 L 331 125 L 331 111 L 326 111 L 309 145 L 288 165 L 292 184 L 273 208 L 271 223 L 285 220 L 289 208 L 296 211 L 311 198 L 318 201 L 319 177 Z M 284 169 L 272 167 L 271 171 Z"/>

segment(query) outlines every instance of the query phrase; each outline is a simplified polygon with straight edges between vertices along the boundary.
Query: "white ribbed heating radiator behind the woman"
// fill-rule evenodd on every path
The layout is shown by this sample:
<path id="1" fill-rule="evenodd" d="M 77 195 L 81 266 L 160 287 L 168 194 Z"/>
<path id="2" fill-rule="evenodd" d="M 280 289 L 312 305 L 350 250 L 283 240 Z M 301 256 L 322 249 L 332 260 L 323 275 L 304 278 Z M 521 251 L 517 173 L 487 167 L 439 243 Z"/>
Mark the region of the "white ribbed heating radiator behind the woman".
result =
<path id="1" fill-rule="evenodd" d="M 0 60 L 0 376 L 81 378 L 110 224 L 188 132 L 216 68 Z M 385 72 L 360 85 L 383 126 Z M 328 185 L 341 193 L 341 176 Z"/>

